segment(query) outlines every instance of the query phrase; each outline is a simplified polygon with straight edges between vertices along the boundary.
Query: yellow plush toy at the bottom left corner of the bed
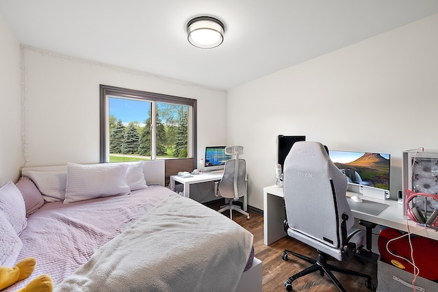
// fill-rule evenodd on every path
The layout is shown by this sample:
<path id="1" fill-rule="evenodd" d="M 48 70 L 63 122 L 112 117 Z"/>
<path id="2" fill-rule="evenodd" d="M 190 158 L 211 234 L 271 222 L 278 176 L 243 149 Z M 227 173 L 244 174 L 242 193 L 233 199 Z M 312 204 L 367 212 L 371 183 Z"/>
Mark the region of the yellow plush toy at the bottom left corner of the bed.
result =
<path id="1" fill-rule="evenodd" d="M 36 265 L 35 258 L 23 258 L 16 263 L 15 267 L 0 266 L 0 290 L 10 287 L 32 274 Z M 53 280 L 48 275 L 41 275 L 31 280 L 26 287 L 15 292 L 51 292 L 53 290 Z"/>

